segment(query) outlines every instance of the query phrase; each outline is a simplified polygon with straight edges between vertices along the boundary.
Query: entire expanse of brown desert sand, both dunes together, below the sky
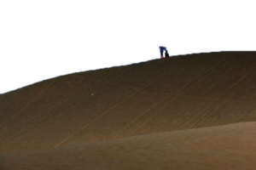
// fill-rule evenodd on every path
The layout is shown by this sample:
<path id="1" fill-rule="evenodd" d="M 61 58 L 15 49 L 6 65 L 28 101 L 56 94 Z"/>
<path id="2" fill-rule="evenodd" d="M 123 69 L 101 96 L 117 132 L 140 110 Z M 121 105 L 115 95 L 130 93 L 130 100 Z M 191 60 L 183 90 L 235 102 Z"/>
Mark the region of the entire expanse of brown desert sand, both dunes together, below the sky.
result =
<path id="1" fill-rule="evenodd" d="M 172 56 L 0 94 L 0 169 L 256 169 L 256 52 Z"/>

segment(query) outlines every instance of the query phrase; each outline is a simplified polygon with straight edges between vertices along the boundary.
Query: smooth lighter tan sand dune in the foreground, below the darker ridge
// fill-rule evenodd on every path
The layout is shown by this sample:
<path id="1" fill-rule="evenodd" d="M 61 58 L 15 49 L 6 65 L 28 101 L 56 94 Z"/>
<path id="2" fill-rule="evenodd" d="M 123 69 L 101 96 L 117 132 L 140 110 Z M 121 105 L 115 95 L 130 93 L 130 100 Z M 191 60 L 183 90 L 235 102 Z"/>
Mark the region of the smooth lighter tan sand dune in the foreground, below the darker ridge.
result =
<path id="1" fill-rule="evenodd" d="M 0 163 L 3 170 L 253 170 L 255 139 L 256 122 L 239 122 L 0 155 Z"/>

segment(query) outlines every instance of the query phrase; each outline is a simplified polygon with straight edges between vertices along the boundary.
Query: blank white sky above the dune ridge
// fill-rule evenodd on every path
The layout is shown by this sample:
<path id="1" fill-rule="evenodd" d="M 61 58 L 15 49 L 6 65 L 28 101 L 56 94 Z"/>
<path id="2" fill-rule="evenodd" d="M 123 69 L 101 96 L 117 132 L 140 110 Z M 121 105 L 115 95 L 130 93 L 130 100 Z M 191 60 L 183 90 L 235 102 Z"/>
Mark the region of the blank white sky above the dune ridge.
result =
<path id="1" fill-rule="evenodd" d="M 1 0 L 0 94 L 73 72 L 256 49 L 249 0 Z"/>

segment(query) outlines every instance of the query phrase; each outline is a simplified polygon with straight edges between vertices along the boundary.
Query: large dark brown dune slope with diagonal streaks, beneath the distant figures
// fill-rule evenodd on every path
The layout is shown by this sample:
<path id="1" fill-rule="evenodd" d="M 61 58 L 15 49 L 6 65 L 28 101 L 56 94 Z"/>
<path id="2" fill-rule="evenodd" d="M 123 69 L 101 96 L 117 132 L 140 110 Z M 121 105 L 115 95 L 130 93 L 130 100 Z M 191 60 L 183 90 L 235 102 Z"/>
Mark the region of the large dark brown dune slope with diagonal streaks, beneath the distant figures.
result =
<path id="1" fill-rule="evenodd" d="M 0 95 L 0 153 L 256 121 L 256 52 L 85 71 Z"/>

